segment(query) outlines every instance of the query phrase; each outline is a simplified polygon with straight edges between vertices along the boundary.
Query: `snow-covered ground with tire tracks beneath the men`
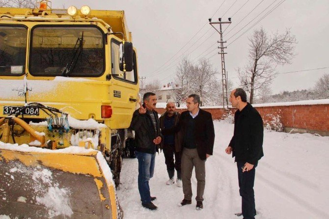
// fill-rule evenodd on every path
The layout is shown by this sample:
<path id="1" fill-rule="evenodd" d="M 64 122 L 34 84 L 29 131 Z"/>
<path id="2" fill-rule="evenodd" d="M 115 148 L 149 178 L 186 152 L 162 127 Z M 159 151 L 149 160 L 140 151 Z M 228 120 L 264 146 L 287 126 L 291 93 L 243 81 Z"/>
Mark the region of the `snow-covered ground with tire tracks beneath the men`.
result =
<path id="1" fill-rule="evenodd" d="M 192 176 L 192 205 L 179 207 L 182 188 L 167 186 L 164 154 L 156 156 L 151 195 L 159 207 L 141 206 L 137 188 L 137 159 L 124 159 L 120 190 L 117 191 L 125 219 L 242 219 L 237 167 L 224 152 L 233 125 L 215 121 L 214 155 L 206 162 L 204 209 L 195 210 L 196 180 Z M 329 137 L 265 131 L 264 157 L 256 168 L 256 219 L 328 219 Z M 327 209 L 327 210 L 326 210 Z"/>

